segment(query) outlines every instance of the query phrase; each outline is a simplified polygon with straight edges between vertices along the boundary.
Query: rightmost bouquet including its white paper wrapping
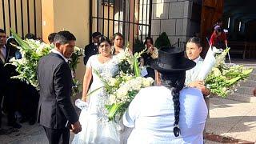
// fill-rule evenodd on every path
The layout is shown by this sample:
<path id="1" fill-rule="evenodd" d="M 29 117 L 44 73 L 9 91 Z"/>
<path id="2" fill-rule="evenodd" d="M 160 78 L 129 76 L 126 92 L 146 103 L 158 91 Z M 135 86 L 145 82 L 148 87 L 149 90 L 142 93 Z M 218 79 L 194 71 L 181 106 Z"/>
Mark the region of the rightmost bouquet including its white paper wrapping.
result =
<path id="1" fill-rule="evenodd" d="M 229 50 L 230 48 L 218 50 L 210 47 L 202 64 L 202 70 L 198 74 L 200 76 L 198 79 L 206 82 L 206 87 L 212 94 L 224 98 L 233 93 L 238 83 L 248 78 L 253 70 L 242 65 L 226 63 L 226 54 Z"/>

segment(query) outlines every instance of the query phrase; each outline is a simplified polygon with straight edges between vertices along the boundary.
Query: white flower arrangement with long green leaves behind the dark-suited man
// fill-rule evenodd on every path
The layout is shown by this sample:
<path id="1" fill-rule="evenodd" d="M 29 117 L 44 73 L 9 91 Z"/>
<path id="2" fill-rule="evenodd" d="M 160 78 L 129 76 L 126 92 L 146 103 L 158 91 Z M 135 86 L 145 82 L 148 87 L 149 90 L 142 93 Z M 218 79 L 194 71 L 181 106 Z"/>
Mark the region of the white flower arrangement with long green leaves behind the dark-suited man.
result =
<path id="1" fill-rule="evenodd" d="M 39 90 L 37 79 L 38 62 L 40 58 L 49 54 L 50 50 L 54 49 L 54 46 L 34 39 L 22 40 L 14 30 L 11 30 L 11 33 L 20 45 L 17 46 L 17 48 L 22 54 L 21 59 L 10 59 L 10 64 L 16 66 L 16 71 L 18 72 L 18 75 L 12 78 L 18 78 Z M 70 67 L 72 70 L 75 70 L 78 65 L 79 57 L 82 56 L 82 54 L 82 50 L 75 46 L 74 54 L 72 54 L 70 58 Z M 79 92 L 78 88 L 79 82 L 73 77 L 73 94 Z"/>

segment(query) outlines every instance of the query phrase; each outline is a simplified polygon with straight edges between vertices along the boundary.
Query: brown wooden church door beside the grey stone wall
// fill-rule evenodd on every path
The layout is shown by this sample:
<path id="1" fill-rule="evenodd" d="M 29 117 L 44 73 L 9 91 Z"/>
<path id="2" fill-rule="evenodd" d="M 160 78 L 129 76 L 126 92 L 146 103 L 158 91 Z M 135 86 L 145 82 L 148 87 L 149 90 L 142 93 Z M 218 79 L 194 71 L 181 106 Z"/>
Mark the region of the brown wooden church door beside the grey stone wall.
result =
<path id="1" fill-rule="evenodd" d="M 202 0 L 201 14 L 201 39 L 202 39 L 202 57 L 206 55 L 209 48 L 206 38 L 210 39 L 214 24 L 219 18 L 222 18 L 224 0 Z"/>

